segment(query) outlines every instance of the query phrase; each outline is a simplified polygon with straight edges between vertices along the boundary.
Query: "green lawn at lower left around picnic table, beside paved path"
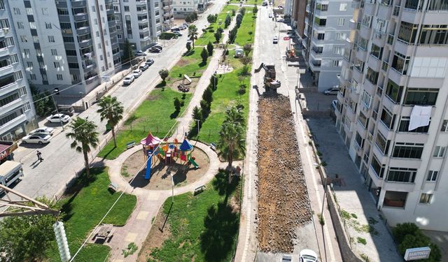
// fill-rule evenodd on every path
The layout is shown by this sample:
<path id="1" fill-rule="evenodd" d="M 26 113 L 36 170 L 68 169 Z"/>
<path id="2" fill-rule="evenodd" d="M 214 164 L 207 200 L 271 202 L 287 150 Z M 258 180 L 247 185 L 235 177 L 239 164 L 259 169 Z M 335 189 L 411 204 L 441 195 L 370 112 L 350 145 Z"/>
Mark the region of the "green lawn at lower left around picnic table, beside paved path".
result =
<path id="1" fill-rule="evenodd" d="M 120 196 L 120 192 L 111 194 L 108 191 L 111 181 L 107 168 L 92 168 L 90 172 L 92 179 L 86 182 L 85 176 L 78 178 L 71 187 L 76 192 L 62 199 L 62 221 L 64 221 L 72 255 L 75 254 L 90 231 Z M 136 203 L 136 196 L 123 194 L 103 223 L 123 226 L 134 210 Z M 74 261 L 102 262 L 109 256 L 109 251 L 110 247 L 106 245 L 87 244 L 81 249 Z M 47 254 L 50 261 L 59 261 L 56 242 L 52 242 Z"/>

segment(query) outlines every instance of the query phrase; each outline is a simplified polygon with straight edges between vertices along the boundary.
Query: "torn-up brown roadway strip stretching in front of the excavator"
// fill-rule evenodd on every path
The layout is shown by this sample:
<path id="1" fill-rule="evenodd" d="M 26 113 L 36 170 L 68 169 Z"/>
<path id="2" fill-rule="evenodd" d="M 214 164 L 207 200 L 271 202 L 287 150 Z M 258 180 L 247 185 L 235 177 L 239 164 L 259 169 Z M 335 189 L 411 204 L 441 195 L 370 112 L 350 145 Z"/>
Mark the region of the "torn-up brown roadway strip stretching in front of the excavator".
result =
<path id="1" fill-rule="evenodd" d="M 262 97 L 258 114 L 258 245 L 262 252 L 290 253 L 311 208 L 289 99 Z"/>

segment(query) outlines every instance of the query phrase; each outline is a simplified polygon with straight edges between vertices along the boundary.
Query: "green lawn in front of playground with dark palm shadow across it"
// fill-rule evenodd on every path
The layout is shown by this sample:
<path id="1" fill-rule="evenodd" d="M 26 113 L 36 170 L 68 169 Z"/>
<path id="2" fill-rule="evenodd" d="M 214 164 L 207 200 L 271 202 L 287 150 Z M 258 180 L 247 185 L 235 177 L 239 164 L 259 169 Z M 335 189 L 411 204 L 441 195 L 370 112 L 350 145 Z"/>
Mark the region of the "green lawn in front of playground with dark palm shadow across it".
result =
<path id="1" fill-rule="evenodd" d="M 167 199 L 162 212 L 168 214 L 171 236 L 162 247 L 153 249 L 157 261 L 231 261 L 235 252 L 239 214 L 230 198 L 239 194 L 239 182 L 228 184 L 220 170 L 201 194 L 186 193 Z"/>

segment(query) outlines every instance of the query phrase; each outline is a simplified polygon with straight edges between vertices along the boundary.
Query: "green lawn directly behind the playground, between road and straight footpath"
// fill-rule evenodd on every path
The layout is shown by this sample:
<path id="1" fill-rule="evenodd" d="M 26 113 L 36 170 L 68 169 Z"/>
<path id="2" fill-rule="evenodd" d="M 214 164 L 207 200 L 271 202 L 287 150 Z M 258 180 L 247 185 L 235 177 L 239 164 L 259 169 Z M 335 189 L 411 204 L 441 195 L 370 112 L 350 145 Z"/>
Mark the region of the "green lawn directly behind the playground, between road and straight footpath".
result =
<path id="1" fill-rule="evenodd" d="M 153 89 L 148 99 L 143 101 L 135 112 L 128 118 L 117 133 L 117 147 L 113 147 L 113 140 L 107 143 L 99 157 L 116 159 L 126 150 L 126 144 L 135 141 L 137 144 L 148 136 L 149 131 L 154 136 L 164 137 L 172 126 L 176 124 L 176 117 L 186 110 L 192 94 L 186 94 L 181 112 L 174 109 L 175 97 L 182 99 L 182 93 L 170 88 Z"/>

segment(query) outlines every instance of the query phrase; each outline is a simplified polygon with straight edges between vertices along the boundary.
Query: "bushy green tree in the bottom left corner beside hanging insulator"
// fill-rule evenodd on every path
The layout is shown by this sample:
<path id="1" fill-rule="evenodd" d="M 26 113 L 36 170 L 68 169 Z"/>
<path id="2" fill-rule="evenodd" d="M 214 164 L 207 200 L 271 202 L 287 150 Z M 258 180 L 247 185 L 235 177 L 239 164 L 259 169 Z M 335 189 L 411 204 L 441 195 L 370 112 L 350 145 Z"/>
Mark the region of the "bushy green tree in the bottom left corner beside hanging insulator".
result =
<path id="1" fill-rule="evenodd" d="M 37 201 L 52 209 L 55 202 L 47 198 Z M 45 250 L 55 239 L 52 225 L 57 217 L 52 214 L 35 214 L 20 217 L 6 217 L 0 221 L 0 261 L 43 261 Z"/>

